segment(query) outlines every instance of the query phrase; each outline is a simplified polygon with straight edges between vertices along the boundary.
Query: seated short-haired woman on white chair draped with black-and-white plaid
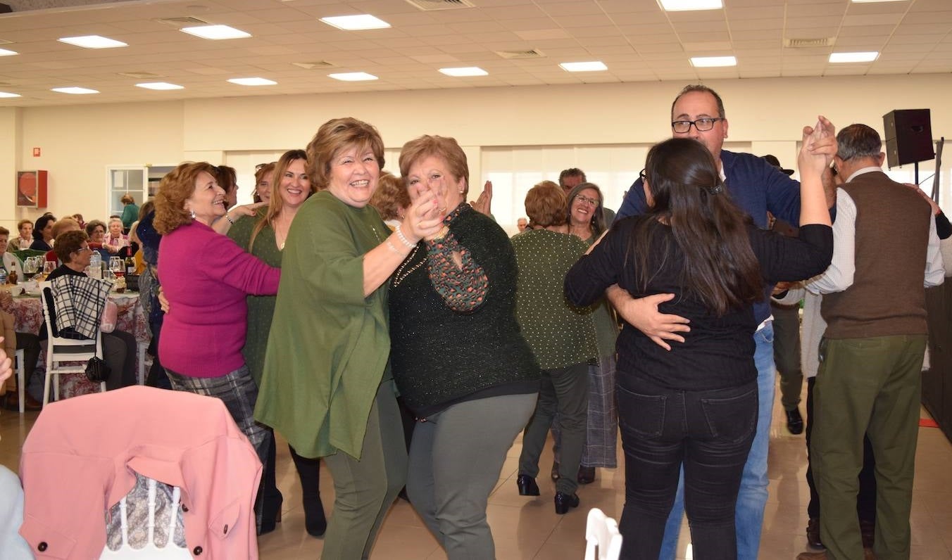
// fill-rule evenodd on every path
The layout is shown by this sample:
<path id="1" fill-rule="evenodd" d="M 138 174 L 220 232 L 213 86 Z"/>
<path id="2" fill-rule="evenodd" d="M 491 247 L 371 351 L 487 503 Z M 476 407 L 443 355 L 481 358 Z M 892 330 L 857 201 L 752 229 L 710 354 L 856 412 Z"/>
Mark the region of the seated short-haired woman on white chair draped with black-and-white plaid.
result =
<path id="1" fill-rule="evenodd" d="M 53 270 L 47 280 L 52 281 L 69 275 L 86 276 L 85 271 L 89 266 L 92 249 L 89 248 L 89 238 L 85 231 L 68 231 L 60 234 L 56 238 L 53 250 L 56 252 L 56 258 L 63 264 Z M 49 300 L 47 305 L 50 308 L 50 320 L 55 326 L 56 316 Z M 48 338 L 46 327 L 40 332 L 40 338 L 43 339 L 42 343 L 45 347 L 46 338 Z M 111 370 L 109 378 L 106 379 L 107 390 L 135 384 L 135 337 L 118 329 L 111 333 L 103 333 L 103 354 L 103 359 Z"/>

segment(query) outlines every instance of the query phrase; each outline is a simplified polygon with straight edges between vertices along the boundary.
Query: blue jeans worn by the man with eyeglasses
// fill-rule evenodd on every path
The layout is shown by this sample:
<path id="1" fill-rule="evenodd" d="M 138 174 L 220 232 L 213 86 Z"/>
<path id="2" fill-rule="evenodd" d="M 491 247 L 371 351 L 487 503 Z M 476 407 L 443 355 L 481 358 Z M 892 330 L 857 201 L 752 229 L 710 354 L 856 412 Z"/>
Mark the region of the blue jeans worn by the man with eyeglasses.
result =
<path id="1" fill-rule="evenodd" d="M 774 376 L 773 323 L 754 333 L 754 365 L 757 366 L 757 390 L 760 412 L 757 415 L 757 434 L 750 446 L 741 492 L 737 495 L 735 524 L 737 527 L 738 560 L 756 560 L 761 548 L 761 527 L 764 525 L 764 506 L 767 503 L 767 448 L 770 443 L 770 419 L 773 415 Z M 674 506 L 664 526 L 661 560 L 673 560 L 678 549 L 678 534 L 684 517 L 684 473 L 678 481 Z"/>

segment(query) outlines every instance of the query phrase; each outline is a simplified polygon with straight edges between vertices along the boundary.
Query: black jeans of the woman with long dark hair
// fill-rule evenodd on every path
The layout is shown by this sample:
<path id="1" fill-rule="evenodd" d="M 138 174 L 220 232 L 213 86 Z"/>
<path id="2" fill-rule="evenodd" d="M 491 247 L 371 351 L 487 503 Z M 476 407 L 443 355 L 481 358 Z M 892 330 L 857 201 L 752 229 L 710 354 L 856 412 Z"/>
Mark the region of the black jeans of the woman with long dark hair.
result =
<path id="1" fill-rule="evenodd" d="M 757 382 L 676 391 L 625 379 L 617 398 L 625 451 L 622 558 L 658 558 L 684 464 L 695 556 L 736 559 L 734 509 L 757 428 Z"/>

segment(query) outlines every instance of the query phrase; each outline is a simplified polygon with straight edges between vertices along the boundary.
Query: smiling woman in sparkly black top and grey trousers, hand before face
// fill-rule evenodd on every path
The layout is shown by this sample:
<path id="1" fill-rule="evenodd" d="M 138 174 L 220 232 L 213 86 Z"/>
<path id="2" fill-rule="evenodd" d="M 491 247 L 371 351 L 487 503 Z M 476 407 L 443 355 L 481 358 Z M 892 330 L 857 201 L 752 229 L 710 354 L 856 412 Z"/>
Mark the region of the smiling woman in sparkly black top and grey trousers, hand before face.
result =
<path id="1" fill-rule="evenodd" d="M 455 140 L 408 142 L 400 172 L 410 200 L 435 190 L 448 212 L 390 280 L 393 377 L 418 419 L 407 494 L 450 560 L 492 559 L 486 503 L 539 392 L 516 323 L 516 260 L 506 232 L 466 203 Z"/>

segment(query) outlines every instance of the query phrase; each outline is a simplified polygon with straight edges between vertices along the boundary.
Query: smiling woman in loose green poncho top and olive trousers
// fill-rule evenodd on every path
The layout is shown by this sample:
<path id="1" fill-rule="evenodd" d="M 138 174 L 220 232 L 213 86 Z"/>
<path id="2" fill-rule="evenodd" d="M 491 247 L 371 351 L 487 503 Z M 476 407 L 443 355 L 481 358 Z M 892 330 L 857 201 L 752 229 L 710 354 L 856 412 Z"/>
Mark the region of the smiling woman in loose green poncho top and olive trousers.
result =
<path id="1" fill-rule="evenodd" d="M 335 499 L 323 557 L 367 558 L 407 475 L 386 282 L 417 241 L 440 231 L 446 208 L 421 196 L 390 233 L 367 204 L 384 143 L 356 119 L 321 126 L 307 161 L 319 192 L 288 230 L 255 417 L 299 454 L 325 457 Z"/>

